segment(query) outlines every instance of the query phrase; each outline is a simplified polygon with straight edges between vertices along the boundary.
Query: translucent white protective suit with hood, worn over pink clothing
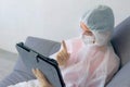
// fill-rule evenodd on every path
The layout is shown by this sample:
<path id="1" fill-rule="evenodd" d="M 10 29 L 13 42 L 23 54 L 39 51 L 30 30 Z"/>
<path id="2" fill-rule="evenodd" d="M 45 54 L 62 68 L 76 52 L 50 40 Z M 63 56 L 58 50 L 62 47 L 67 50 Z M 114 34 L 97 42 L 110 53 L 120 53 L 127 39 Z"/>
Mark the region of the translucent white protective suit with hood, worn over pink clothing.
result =
<path id="1" fill-rule="evenodd" d="M 66 65 L 61 67 L 64 82 L 66 87 L 105 87 L 119 67 L 119 58 L 109 42 L 114 30 L 113 11 L 105 5 L 96 7 L 88 11 L 81 22 L 95 38 L 81 35 L 65 40 L 70 57 Z M 25 85 L 11 87 L 30 87 Z M 31 87 L 39 87 L 38 82 L 37 86 Z"/>

